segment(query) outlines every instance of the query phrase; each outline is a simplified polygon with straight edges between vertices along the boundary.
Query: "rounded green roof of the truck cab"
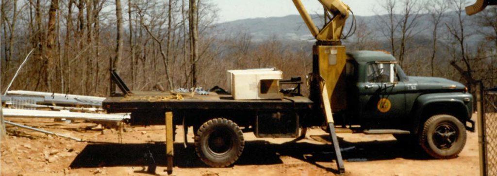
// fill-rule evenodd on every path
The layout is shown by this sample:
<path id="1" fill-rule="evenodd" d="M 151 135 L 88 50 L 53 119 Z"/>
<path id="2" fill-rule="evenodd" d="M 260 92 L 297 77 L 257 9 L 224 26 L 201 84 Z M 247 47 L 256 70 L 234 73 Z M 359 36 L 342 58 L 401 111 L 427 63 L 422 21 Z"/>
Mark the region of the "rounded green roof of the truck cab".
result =
<path id="1" fill-rule="evenodd" d="M 376 61 L 396 61 L 394 56 L 385 51 L 351 51 L 347 52 L 347 56 L 361 64 Z"/>

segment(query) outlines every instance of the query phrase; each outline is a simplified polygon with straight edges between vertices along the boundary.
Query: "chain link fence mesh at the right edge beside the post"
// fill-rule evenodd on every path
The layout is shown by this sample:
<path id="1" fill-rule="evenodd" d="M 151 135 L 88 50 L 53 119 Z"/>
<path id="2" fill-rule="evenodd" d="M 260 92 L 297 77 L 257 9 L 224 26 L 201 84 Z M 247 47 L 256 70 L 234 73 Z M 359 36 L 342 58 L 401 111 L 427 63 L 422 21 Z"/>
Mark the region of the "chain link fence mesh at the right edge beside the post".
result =
<path id="1" fill-rule="evenodd" d="M 497 176 L 497 88 L 484 91 L 486 176 Z"/>

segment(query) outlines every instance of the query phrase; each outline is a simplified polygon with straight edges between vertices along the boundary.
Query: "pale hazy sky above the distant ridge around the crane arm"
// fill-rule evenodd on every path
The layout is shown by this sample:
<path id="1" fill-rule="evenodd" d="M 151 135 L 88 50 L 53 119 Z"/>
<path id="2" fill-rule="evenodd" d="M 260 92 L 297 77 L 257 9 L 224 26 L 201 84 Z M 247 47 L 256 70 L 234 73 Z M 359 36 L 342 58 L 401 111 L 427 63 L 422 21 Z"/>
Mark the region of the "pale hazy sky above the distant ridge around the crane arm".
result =
<path id="1" fill-rule="evenodd" d="M 301 0 L 310 14 L 323 13 L 318 0 Z M 376 0 L 342 0 L 355 15 L 374 15 Z M 292 0 L 212 0 L 220 8 L 219 22 L 245 18 L 286 16 L 299 14 Z"/>

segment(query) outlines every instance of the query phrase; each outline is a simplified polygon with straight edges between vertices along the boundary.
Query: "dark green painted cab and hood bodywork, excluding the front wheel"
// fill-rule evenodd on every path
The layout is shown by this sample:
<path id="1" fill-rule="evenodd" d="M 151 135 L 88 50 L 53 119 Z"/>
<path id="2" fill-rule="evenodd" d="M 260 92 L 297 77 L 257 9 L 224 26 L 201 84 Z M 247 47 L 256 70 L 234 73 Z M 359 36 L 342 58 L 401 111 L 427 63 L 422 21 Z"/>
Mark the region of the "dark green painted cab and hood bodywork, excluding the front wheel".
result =
<path id="1" fill-rule="evenodd" d="M 355 84 L 355 121 L 366 129 L 405 129 L 414 134 L 422 120 L 423 110 L 430 105 L 445 104 L 450 107 L 465 109 L 460 114 L 465 123 L 470 121 L 473 112 L 473 96 L 465 92 L 461 83 L 435 77 L 406 76 L 398 66 L 395 57 L 381 51 L 348 52 L 349 63 L 356 69 Z M 368 71 L 371 65 L 391 63 L 395 68 L 395 81 L 371 81 Z M 384 64 L 382 67 L 387 67 Z M 374 67 L 373 67 L 374 68 Z M 369 70 L 368 70 L 369 69 Z M 383 99 L 388 99 L 389 107 L 383 107 Z M 352 103 L 352 104 L 353 104 Z M 350 103 L 349 103 L 350 104 Z M 449 112 L 447 112 L 449 113 Z"/>

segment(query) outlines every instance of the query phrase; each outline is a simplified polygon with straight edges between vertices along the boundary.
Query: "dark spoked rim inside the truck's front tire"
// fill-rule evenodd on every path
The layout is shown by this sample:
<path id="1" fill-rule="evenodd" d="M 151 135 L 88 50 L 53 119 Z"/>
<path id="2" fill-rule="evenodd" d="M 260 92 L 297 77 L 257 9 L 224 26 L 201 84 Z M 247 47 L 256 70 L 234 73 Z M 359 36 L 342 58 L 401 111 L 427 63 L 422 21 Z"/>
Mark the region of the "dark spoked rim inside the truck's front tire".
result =
<path id="1" fill-rule="evenodd" d="M 450 123 L 442 123 L 433 132 L 433 143 L 442 150 L 450 149 L 457 141 L 457 128 Z"/>

